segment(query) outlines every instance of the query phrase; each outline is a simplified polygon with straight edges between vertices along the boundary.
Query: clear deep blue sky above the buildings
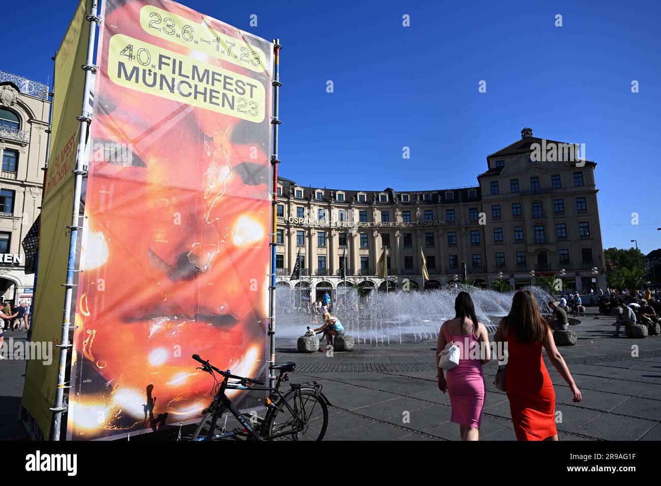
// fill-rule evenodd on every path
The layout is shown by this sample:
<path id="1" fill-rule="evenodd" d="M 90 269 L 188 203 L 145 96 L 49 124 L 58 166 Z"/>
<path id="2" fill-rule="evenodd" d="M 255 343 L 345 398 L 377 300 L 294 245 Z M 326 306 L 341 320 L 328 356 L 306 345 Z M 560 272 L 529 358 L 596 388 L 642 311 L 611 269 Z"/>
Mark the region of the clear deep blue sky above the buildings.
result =
<path id="1" fill-rule="evenodd" d="M 585 143 L 598 163 L 604 248 L 631 239 L 644 253 L 661 247 L 661 2 L 183 3 L 280 38 L 284 177 L 367 190 L 475 184 L 486 155 L 529 126 L 541 138 Z M 3 5 L 4 38 L 14 42 L 0 69 L 45 82 L 75 4 Z"/>

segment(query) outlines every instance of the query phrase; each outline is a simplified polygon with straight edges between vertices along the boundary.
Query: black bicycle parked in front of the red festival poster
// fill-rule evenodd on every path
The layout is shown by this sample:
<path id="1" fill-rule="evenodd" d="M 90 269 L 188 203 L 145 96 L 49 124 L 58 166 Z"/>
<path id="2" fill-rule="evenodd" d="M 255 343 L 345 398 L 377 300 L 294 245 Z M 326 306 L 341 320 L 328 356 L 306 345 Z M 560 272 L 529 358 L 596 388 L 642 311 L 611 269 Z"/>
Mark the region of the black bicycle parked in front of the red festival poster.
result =
<path id="1" fill-rule="evenodd" d="M 209 360 L 203 360 L 198 354 L 193 354 L 193 359 L 202 363 L 201 368 L 196 368 L 209 373 L 214 377 L 217 391 L 214 401 L 202 412 L 204 416 L 198 424 L 192 440 L 220 440 L 233 438 L 241 440 L 323 440 L 328 426 L 328 406 L 331 403 L 321 393 L 322 385 L 317 382 L 290 384 L 292 389 L 286 393 L 280 391 L 280 384 L 289 381 L 289 374 L 294 370 L 296 364 L 293 362 L 274 364 L 270 370 L 278 370 L 280 374 L 276 378 L 275 387 L 264 386 L 264 382 L 235 376 L 227 371 L 221 371 Z M 214 372 L 223 376 L 223 381 L 218 382 Z M 229 380 L 238 380 L 229 382 Z M 225 396 L 227 389 L 268 391 L 266 397 L 266 416 L 258 419 L 258 423 L 251 420 L 237 409 L 231 400 Z M 236 417 L 241 427 L 234 430 L 225 430 L 225 425 L 217 430 L 218 420 L 226 411 Z"/>

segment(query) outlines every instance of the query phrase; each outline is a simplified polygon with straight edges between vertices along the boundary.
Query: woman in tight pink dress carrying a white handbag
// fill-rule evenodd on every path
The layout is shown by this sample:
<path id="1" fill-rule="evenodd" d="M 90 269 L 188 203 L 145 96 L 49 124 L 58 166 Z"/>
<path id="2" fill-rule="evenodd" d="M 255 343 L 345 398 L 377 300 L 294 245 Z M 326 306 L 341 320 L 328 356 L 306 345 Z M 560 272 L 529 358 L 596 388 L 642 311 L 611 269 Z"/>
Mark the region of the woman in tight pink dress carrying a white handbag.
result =
<path id="1" fill-rule="evenodd" d="M 459 365 L 447 371 L 438 367 L 439 356 L 447 343 L 459 348 Z M 455 299 L 455 318 L 445 321 L 438 333 L 436 347 L 438 388 L 449 393 L 452 405 L 450 421 L 459 424 L 461 440 L 479 440 L 482 409 L 485 405 L 485 378 L 482 365 L 491 359 L 486 327 L 477 321 L 473 299 L 459 292 Z"/>

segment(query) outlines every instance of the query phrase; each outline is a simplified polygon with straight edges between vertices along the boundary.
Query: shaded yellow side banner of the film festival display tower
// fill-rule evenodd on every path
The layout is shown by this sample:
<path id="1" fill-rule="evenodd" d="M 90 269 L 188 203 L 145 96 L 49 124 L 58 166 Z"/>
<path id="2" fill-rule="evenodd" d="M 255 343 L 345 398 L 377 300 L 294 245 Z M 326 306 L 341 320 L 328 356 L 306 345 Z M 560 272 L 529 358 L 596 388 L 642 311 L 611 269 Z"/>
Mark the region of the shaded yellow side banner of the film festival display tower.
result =
<path id="1" fill-rule="evenodd" d="M 52 106 L 52 137 L 48 171 L 44 179 L 41 209 L 39 271 L 32 319 L 32 341 L 59 344 L 64 308 L 63 283 L 67 278 L 69 236 L 73 210 L 73 174 L 79 141 L 80 122 L 76 119 L 83 107 L 89 24 L 85 15 L 91 1 L 78 3 L 55 56 L 55 78 Z M 23 387 L 22 407 L 30 413 L 45 438 L 50 434 L 51 407 L 58 383 L 58 349 L 54 359 L 28 361 Z M 36 430 L 35 430 L 36 432 Z"/>

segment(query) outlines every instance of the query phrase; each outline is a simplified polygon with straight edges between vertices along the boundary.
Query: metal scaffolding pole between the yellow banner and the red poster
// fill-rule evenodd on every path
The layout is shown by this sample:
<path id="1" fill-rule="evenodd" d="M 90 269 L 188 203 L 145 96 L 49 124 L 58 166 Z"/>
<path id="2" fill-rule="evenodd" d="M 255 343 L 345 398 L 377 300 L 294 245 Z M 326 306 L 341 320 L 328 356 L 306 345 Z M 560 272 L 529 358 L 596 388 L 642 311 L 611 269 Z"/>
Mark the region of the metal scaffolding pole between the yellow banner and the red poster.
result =
<path id="1" fill-rule="evenodd" d="M 53 418 L 50 425 L 50 440 L 59 440 L 59 435 L 62 426 L 62 414 L 67 411 L 68 406 L 64 404 L 64 389 L 69 388 L 67 385 L 67 358 L 71 344 L 69 343 L 69 331 L 73 327 L 69 321 L 71 315 L 71 296 L 73 294 L 74 275 L 78 271 L 75 268 L 76 264 L 76 249 L 78 246 L 78 232 L 83 229 L 80 226 L 80 207 L 81 207 L 81 191 L 83 185 L 83 174 L 86 171 L 83 169 L 85 153 L 87 152 L 87 131 L 89 124 L 92 122 L 92 114 L 87 111 L 90 102 L 90 90 L 92 87 L 92 75 L 96 72 L 97 68 L 93 64 L 94 61 L 94 48 L 95 37 L 97 34 L 97 17 L 98 0 L 91 0 L 91 11 L 86 19 L 89 22 L 89 43 L 87 44 L 87 61 L 82 66 L 85 71 L 85 85 L 83 88 L 83 108 L 81 116 L 78 117 L 80 122 L 80 132 L 78 140 L 78 149 L 76 155 L 76 165 L 73 169 L 73 212 L 71 214 L 71 226 L 69 229 L 69 259 L 67 261 L 67 283 L 63 284 L 65 288 L 64 294 L 64 309 L 62 315 L 62 333 L 61 341 L 56 347 L 59 348 L 59 366 L 58 366 L 58 385 L 56 387 L 55 405 L 51 408 Z M 61 95 L 61 94 L 60 94 Z"/>

